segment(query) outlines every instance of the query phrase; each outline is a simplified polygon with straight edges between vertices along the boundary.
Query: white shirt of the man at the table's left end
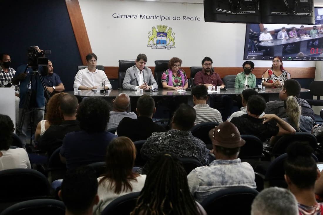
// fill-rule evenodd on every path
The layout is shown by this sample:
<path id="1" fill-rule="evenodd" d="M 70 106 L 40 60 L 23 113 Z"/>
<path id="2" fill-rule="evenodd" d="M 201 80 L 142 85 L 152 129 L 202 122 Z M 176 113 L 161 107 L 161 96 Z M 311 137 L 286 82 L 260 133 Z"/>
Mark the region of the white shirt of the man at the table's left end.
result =
<path id="1" fill-rule="evenodd" d="M 74 88 L 78 88 L 81 85 L 85 87 L 102 87 L 105 80 L 105 86 L 111 89 L 112 86 L 104 71 L 95 69 L 95 72 L 90 72 L 88 67 L 86 67 L 85 69 L 79 70 L 76 74 Z"/>

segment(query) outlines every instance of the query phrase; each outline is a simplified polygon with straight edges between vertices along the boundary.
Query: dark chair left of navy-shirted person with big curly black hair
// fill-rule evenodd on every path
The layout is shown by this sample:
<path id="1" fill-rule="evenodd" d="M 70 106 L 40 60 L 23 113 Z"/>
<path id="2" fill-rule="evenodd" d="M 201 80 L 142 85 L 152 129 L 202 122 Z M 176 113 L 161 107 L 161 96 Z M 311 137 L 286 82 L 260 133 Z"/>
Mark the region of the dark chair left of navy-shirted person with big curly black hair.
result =
<path id="1" fill-rule="evenodd" d="M 62 147 L 57 148 L 50 156 L 47 164 L 47 178 L 50 182 L 62 179 L 66 172 L 66 165 L 62 163 L 59 152 Z"/>

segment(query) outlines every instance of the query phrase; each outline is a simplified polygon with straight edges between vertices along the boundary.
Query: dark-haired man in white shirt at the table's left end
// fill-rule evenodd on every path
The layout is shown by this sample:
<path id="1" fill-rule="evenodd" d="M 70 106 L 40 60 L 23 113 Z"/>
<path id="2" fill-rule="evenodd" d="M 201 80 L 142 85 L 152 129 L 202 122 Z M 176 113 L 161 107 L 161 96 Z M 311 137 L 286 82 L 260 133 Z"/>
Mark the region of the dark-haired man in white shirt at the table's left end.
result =
<path id="1" fill-rule="evenodd" d="M 104 71 L 96 69 L 98 57 L 94 54 L 86 56 L 86 63 L 88 67 L 78 71 L 74 78 L 74 88 L 79 90 L 92 90 L 92 89 L 111 89 L 112 86 Z"/>

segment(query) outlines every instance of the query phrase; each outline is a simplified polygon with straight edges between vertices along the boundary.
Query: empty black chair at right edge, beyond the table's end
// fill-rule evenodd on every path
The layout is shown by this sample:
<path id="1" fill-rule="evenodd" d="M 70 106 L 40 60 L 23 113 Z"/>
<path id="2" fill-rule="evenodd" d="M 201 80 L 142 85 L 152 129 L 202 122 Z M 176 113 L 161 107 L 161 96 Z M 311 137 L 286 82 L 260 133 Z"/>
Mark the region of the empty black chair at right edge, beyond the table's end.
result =
<path id="1" fill-rule="evenodd" d="M 312 81 L 312 83 L 309 85 L 309 93 L 312 96 L 317 96 L 317 99 L 306 99 L 308 104 L 313 106 L 323 106 L 323 100 L 320 99 L 321 96 L 323 96 L 323 81 Z M 323 119 L 317 115 L 314 114 L 315 121 L 322 122 Z"/>

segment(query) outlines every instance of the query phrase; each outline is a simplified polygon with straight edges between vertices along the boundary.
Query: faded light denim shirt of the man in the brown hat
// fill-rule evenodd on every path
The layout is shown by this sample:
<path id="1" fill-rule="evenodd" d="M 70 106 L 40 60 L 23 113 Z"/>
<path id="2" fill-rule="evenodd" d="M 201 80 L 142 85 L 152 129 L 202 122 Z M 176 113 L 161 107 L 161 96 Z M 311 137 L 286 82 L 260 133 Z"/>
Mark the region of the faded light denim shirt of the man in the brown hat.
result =
<path id="1" fill-rule="evenodd" d="M 256 188 L 255 172 L 241 160 L 214 160 L 210 166 L 197 167 L 187 176 L 188 186 L 195 200 L 202 202 L 214 192 L 236 186 Z"/>

